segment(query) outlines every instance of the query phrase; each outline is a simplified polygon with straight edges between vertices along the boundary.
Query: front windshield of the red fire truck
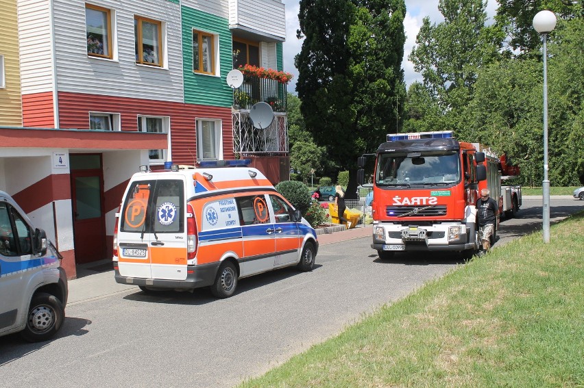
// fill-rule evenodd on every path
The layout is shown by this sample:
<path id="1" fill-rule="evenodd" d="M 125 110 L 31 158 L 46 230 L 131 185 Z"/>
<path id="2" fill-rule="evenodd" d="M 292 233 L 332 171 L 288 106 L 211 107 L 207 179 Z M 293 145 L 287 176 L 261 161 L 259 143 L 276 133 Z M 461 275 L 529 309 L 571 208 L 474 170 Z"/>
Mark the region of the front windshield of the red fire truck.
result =
<path id="1" fill-rule="evenodd" d="M 452 152 L 380 153 L 378 186 L 454 185 L 461 179 L 459 154 Z"/>

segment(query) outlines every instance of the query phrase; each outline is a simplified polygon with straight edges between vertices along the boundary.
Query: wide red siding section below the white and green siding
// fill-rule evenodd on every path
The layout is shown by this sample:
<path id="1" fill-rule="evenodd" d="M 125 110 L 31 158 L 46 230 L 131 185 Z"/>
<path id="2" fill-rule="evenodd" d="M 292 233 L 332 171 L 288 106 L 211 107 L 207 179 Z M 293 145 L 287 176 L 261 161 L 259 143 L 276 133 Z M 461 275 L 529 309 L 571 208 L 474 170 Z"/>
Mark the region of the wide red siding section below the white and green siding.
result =
<path id="1" fill-rule="evenodd" d="M 223 157 L 234 157 L 230 108 L 69 92 L 59 92 L 58 96 L 62 128 L 89 129 L 89 112 L 120 114 L 123 131 L 138 131 L 138 115 L 169 116 L 175 164 L 193 164 L 196 160 L 195 120 L 219 119 L 223 125 Z"/>

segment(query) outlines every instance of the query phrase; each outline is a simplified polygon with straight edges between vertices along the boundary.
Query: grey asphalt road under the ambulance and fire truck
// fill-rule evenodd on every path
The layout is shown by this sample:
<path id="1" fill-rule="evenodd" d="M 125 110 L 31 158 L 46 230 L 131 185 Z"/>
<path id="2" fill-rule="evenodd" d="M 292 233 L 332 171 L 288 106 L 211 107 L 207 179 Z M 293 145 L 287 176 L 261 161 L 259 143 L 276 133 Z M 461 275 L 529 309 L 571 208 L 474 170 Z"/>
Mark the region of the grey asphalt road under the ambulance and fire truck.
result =
<path id="1" fill-rule="evenodd" d="M 541 228 L 541 198 L 501 222 L 500 246 Z M 552 198 L 551 219 L 584 209 Z M 539 218 L 539 221 L 538 221 Z M 553 238 L 553 235 L 552 235 Z M 67 307 L 58 337 L 0 337 L 3 387 L 232 387 L 339 333 L 462 263 L 458 255 L 380 261 L 370 238 L 321 246 L 313 272 L 243 279 L 232 298 L 132 290 Z"/>

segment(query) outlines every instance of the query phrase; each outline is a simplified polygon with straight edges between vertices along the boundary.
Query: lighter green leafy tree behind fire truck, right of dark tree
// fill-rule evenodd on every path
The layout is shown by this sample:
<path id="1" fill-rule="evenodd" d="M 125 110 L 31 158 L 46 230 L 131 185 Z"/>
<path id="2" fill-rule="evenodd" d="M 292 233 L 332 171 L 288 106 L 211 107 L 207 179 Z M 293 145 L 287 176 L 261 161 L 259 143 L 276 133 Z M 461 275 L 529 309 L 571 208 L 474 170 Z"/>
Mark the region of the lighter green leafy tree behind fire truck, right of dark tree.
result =
<path id="1" fill-rule="evenodd" d="M 485 27 L 483 0 L 439 0 L 444 21 L 430 25 L 424 18 L 409 59 L 422 73 L 424 86 L 436 99 L 441 129 L 458 132 L 465 126 L 465 107 L 472 99 L 478 68 L 498 58 L 502 31 Z"/>

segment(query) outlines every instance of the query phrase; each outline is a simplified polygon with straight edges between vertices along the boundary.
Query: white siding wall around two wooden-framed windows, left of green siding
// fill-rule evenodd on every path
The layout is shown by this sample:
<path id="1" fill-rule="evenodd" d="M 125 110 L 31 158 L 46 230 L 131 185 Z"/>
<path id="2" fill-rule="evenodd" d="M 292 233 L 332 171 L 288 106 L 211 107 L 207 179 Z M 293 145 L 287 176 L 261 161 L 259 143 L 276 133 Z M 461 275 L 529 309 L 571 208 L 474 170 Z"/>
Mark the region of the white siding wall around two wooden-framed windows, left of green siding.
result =
<path id="1" fill-rule="evenodd" d="M 114 60 L 88 57 L 85 1 L 53 0 L 58 90 L 183 101 L 180 5 L 167 0 L 93 0 L 111 10 Z M 161 21 L 164 68 L 136 65 L 134 15 Z M 113 38 L 113 37 L 112 37 Z"/>

